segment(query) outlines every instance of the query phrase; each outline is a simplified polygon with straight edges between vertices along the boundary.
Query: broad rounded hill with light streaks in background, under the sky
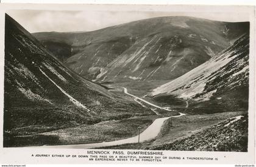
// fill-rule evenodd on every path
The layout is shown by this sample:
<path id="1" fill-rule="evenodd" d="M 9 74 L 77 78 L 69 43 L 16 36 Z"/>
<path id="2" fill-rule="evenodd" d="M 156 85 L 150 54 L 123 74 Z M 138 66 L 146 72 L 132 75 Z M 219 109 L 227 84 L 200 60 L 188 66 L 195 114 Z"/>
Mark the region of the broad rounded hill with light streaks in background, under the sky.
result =
<path id="1" fill-rule="evenodd" d="M 169 16 L 94 32 L 34 36 L 90 80 L 143 81 L 180 77 L 230 46 L 248 29 L 248 22 Z"/>

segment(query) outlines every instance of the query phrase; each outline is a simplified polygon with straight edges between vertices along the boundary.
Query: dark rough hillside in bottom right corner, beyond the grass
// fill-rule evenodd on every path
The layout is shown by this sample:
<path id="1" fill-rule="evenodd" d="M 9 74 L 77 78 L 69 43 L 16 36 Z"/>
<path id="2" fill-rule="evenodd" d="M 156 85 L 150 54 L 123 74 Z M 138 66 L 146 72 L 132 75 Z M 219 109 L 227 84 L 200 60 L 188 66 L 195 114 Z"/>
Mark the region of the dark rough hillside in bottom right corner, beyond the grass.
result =
<path id="1" fill-rule="evenodd" d="M 247 152 L 247 115 L 230 118 L 190 137 L 151 149 L 179 151 Z"/>

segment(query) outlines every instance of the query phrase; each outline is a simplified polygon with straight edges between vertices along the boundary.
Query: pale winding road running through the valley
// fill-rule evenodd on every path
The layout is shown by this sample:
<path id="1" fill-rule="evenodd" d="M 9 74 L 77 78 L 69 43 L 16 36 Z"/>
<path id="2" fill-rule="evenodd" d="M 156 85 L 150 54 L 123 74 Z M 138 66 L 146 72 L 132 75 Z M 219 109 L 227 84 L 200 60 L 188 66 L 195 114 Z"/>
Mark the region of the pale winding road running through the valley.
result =
<path id="1" fill-rule="evenodd" d="M 125 94 L 130 95 L 131 97 L 137 98 L 137 99 L 143 101 L 144 103 L 147 103 L 147 104 L 157 107 L 159 109 L 171 111 L 169 109 L 149 103 L 148 101 L 143 100 L 142 98 L 136 97 L 135 95 L 129 94 L 125 87 L 123 87 L 123 89 L 124 89 Z M 180 115 L 171 116 L 171 117 L 181 117 L 181 116 L 185 115 L 180 112 L 179 112 L 179 114 Z M 159 132 L 161 130 L 163 122 L 171 117 L 163 117 L 163 118 L 155 119 L 154 122 L 147 129 L 145 129 L 143 132 L 141 132 L 140 142 L 151 140 L 151 139 L 157 137 L 157 135 L 159 134 Z M 116 145 L 123 145 L 123 144 L 128 144 L 128 143 L 137 143 L 137 142 L 138 142 L 138 135 L 135 137 L 125 138 L 122 140 L 107 141 L 107 142 L 101 142 L 101 143 L 87 143 L 87 144 L 74 144 L 74 145 L 43 145 L 43 146 L 39 146 L 39 147 L 43 147 L 43 148 L 80 148 L 80 149 L 82 149 L 82 148 L 100 148 L 100 147 L 105 147 L 105 146 L 116 146 Z M 35 147 L 38 148 L 38 146 L 35 146 Z"/>

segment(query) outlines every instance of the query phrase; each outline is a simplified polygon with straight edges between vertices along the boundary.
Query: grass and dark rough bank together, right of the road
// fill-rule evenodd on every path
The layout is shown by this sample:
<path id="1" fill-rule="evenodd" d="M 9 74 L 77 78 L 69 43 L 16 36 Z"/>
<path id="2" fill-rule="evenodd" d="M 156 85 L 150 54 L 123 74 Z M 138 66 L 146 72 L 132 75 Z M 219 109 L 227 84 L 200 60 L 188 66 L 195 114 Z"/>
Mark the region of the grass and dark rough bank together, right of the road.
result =
<path id="1" fill-rule="evenodd" d="M 244 145 L 244 141 L 247 140 L 247 122 L 242 119 L 225 126 L 232 120 L 230 118 L 243 114 L 246 114 L 246 111 L 172 118 L 165 121 L 160 134 L 154 140 L 99 149 L 247 151 L 247 146 Z M 236 134 L 239 134 L 240 138 L 233 136 Z"/>

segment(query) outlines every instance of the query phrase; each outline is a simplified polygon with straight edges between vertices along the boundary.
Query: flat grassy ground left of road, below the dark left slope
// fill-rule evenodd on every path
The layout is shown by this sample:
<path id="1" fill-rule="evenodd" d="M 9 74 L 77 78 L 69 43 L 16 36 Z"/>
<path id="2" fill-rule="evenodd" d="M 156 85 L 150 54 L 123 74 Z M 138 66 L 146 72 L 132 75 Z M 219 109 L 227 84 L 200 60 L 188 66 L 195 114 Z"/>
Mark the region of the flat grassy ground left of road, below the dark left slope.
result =
<path id="1" fill-rule="evenodd" d="M 138 135 L 138 126 L 141 127 L 141 131 L 144 131 L 158 117 L 157 115 L 152 115 L 124 118 L 123 120 L 101 121 L 96 124 L 84 124 L 73 128 L 32 135 L 12 136 L 6 134 L 5 140 L 8 143 L 5 143 L 5 146 L 66 145 L 119 140 Z M 45 127 L 29 126 L 26 128 L 38 131 L 37 129 Z"/>

